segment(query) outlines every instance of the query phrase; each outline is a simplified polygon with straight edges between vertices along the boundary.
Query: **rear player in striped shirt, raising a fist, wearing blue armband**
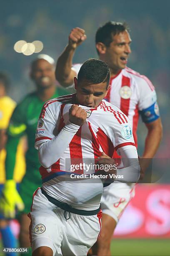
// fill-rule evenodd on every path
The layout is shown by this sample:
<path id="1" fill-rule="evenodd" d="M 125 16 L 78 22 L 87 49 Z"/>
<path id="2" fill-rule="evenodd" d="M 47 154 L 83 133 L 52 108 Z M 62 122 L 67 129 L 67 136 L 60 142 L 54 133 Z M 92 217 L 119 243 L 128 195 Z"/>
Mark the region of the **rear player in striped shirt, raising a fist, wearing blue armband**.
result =
<path id="1" fill-rule="evenodd" d="M 72 58 L 77 46 L 82 44 L 86 38 L 83 29 L 72 29 L 68 44 L 57 60 L 56 78 L 65 87 L 72 84 L 73 77 L 77 76 L 81 67 L 81 64 L 72 65 Z M 153 84 L 147 77 L 126 67 L 131 53 L 131 38 L 126 24 L 105 23 L 98 28 L 95 43 L 99 58 L 109 65 L 111 73 L 111 87 L 105 99 L 120 108 L 130 119 L 136 146 L 138 118 L 139 115 L 142 116 L 148 129 L 142 158 L 153 158 L 162 137 L 157 96 Z M 122 211 L 134 195 L 134 184 L 112 183 L 104 188 L 101 200 L 102 233 L 97 240 L 95 254 L 110 255 L 113 231 Z"/>

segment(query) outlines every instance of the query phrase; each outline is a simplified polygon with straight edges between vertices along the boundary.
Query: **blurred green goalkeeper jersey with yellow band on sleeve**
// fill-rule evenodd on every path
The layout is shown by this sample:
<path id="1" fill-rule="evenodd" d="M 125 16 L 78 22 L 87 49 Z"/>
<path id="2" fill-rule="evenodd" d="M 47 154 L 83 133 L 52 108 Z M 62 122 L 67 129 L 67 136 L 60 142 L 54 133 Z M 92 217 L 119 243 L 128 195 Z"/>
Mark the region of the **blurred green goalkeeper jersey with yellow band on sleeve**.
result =
<path id="1" fill-rule="evenodd" d="M 57 87 L 55 94 L 51 98 L 66 94 L 67 92 L 65 90 Z M 16 149 L 20 137 L 25 134 L 28 138 L 28 151 L 26 153 L 27 170 L 25 176 L 30 177 L 32 182 L 34 182 L 34 178 L 40 177 L 38 172 L 40 163 L 34 143 L 37 120 L 44 103 L 45 102 L 37 97 L 37 92 L 33 92 L 27 95 L 15 108 L 10 120 L 10 125 L 7 129 L 7 156 L 5 161 L 6 179 L 13 179 Z"/>

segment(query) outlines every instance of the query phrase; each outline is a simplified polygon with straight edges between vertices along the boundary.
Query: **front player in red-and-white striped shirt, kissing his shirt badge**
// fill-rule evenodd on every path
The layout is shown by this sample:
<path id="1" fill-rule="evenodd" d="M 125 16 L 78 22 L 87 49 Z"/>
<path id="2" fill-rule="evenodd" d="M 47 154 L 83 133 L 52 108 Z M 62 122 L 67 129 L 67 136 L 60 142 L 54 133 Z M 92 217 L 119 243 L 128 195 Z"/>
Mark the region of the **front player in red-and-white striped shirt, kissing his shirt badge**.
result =
<path id="1" fill-rule="evenodd" d="M 136 182 L 140 176 L 130 122 L 103 100 L 109 82 L 108 65 L 87 60 L 74 77 L 77 93 L 49 100 L 42 108 L 35 139 L 42 188 L 35 191 L 29 214 L 33 256 L 86 255 L 100 234 L 102 180 L 97 175 L 95 181 L 71 178 L 73 163 L 91 159 L 106 166 L 117 149 L 124 164 L 117 169 L 117 181 L 119 174 L 123 182 Z M 95 171 L 91 168 L 88 174 Z M 79 168 L 74 175 L 85 173 Z"/>

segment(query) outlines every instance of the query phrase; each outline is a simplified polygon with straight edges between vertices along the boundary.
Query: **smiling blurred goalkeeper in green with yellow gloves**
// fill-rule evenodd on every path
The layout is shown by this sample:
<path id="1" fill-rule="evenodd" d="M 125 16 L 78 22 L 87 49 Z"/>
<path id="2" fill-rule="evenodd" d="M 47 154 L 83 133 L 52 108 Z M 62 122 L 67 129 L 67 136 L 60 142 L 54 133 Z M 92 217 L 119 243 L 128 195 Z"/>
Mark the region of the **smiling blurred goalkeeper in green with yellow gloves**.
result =
<path id="1" fill-rule="evenodd" d="M 30 247 L 30 219 L 27 214 L 30 211 L 32 194 L 41 184 L 38 172 L 39 161 L 34 148 L 37 120 L 45 101 L 65 94 L 65 90 L 56 87 L 54 60 L 48 55 L 40 54 L 32 62 L 30 77 L 35 82 L 36 91 L 27 95 L 17 105 L 7 130 L 7 156 L 5 163 L 7 181 L 3 189 L 3 197 L 0 200 L 0 208 L 4 211 L 7 218 L 15 217 L 15 206 L 19 210 L 23 210 L 20 215 L 20 246 L 22 247 Z M 18 141 L 24 134 L 28 138 L 28 151 L 26 153 L 26 174 L 20 184 L 19 195 L 13 179 L 13 172 Z"/>

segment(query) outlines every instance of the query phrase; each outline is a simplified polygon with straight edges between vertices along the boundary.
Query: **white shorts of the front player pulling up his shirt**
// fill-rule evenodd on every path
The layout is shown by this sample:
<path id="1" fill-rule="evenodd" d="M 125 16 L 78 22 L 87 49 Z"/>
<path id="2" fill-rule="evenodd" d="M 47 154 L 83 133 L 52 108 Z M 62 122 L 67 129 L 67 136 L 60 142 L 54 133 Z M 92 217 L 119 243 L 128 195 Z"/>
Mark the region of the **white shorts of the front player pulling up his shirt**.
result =
<path id="1" fill-rule="evenodd" d="M 40 246 L 50 247 L 53 255 L 87 255 L 97 241 L 101 229 L 101 213 L 83 216 L 70 213 L 65 219 L 64 210 L 47 200 L 41 189 L 33 195 L 28 216 L 32 251 Z M 67 212 L 67 218 L 69 212 Z"/>

